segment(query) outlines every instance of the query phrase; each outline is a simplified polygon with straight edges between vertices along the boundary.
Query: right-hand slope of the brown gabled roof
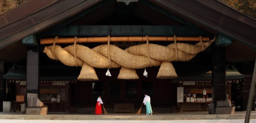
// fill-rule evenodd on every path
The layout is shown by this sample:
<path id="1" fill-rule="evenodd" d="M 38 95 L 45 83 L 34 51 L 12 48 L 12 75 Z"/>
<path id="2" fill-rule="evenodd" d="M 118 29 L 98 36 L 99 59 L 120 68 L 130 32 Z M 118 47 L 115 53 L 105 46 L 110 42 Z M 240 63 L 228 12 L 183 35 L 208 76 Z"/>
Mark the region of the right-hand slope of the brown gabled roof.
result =
<path id="1" fill-rule="evenodd" d="M 150 0 L 194 23 L 256 48 L 256 20 L 217 0 Z"/>

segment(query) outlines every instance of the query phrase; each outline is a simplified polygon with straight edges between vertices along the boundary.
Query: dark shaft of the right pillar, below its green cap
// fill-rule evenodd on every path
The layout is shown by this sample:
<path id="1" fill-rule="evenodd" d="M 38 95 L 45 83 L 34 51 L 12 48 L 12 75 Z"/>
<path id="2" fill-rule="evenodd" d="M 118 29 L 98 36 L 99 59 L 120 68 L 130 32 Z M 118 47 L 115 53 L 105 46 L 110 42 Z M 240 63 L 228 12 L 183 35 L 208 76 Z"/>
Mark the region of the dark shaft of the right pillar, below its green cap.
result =
<path id="1" fill-rule="evenodd" d="M 226 100 L 226 48 L 212 46 L 213 101 Z"/>

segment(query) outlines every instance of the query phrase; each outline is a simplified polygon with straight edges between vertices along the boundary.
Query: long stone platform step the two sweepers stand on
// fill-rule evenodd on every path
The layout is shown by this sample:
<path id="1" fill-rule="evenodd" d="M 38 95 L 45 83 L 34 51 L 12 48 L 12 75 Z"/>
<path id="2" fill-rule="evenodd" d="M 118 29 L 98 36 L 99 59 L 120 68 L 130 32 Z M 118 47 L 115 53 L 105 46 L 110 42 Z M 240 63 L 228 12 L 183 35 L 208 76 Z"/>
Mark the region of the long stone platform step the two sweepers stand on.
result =
<path id="1" fill-rule="evenodd" d="M 232 115 L 208 115 L 208 112 L 182 112 L 182 113 L 158 113 L 153 115 L 135 114 L 108 114 L 92 115 L 78 113 L 48 113 L 48 115 L 21 115 L 17 113 L 0 113 L 0 119 L 27 119 L 27 120 L 201 120 L 201 119 L 244 119 L 245 112 Z M 256 113 L 252 112 L 251 119 L 256 119 Z"/>

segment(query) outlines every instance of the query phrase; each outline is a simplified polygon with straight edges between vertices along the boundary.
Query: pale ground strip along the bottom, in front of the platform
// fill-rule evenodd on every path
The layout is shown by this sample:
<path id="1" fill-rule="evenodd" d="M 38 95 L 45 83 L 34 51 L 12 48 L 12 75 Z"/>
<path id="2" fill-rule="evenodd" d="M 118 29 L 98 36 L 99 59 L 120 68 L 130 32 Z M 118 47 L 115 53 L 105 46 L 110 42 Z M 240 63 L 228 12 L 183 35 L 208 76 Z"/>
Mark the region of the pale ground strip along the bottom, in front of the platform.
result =
<path id="1" fill-rule="evenodd" d="M 220 120 L 174 120 L 174 121 L 59 121 L 59 120 L 15 120 L 0 119 L 0 123 L 244 123 L 244 119 Z M 256 123 L 251 119 L 250 123 Z"/>

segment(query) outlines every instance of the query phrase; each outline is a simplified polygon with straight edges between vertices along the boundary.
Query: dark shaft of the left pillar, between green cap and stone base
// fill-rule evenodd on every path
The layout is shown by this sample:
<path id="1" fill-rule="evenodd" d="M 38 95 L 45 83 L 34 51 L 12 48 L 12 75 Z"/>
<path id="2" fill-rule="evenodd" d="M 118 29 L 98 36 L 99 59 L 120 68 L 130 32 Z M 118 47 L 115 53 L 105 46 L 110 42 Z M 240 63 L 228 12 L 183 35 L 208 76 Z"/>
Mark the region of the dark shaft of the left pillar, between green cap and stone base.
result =
<path id="1" fill-rule="evenodd" d="M 27 93 L 38 94 L 39 52 L 38 47 L 27 48 Z"/>

